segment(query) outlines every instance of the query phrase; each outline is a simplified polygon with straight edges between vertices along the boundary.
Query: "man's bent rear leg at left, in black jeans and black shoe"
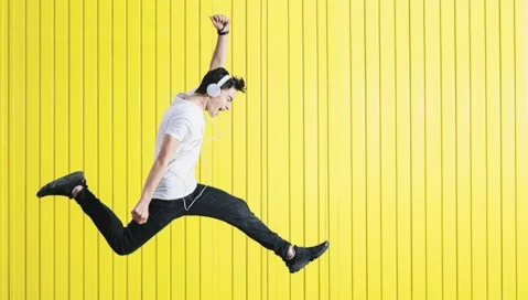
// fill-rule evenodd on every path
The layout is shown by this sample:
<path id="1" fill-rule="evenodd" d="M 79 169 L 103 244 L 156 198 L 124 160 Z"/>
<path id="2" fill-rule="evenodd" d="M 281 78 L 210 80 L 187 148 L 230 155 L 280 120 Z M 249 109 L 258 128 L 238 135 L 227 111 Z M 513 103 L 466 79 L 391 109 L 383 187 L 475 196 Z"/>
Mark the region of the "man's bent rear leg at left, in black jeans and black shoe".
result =
<path id="1" fill-rule="evenodd" d="M 82 190 L 74 197 L 74 189 Z M 78 190 L 78 188 L 77 188 Z M 75 199 L 83 212 L 90 217 L 97 229 L 105 237 L 108 245 L 118 255 L 129 255 L 146 244 L 174 217 L 183 213 L 176 202 L 152 200 L 149 207 L 149 218 L 144 224 L 131 221 L 126 227 L 116 214 L 99 201 L 86 184 L 83 172 L 75 172 L 54 180 L 42 186 L 39 197 L 61 195 Z M 180 207 L 180 212 L 176 210 Z"/>

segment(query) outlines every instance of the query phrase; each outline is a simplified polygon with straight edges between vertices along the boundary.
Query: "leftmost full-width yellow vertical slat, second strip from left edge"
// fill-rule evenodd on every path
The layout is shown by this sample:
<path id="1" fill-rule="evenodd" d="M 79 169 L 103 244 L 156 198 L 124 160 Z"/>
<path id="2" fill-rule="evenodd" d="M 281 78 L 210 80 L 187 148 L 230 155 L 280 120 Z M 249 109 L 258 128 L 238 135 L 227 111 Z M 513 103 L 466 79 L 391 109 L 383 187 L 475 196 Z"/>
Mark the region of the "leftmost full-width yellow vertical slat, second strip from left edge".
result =
<path id="1" fill-rule="evenodd" d="M 11 1 L 9 7 L 9 293 L 25 298 L 25 1 Z"/>

